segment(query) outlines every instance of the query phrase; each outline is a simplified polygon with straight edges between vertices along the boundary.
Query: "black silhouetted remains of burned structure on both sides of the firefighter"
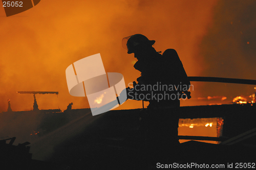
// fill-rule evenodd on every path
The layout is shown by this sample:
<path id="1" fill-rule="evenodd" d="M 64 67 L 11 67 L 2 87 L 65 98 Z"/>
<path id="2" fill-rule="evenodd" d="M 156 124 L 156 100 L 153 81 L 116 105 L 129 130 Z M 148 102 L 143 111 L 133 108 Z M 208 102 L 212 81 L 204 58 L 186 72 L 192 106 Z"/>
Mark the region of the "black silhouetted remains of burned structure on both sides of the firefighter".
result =
<path id="1" fill-rule="evenodd" d="M 180 118 L 223 117 L 224 127 L 223 136 L 219 138 L 202 136 L 179 136 L 179 138 L 225 141 L 238 135 L 240 136 L 253 128 L 255 130 L 255 107 L 256 105 L 254 104 L 180 107 Z M 70 168 L 77 170 L 143 169 L 138 168 L 142 164 L 142 157 L 139 157 L 138 154 L 138 151 L 141 150 L 141 145 L 138 143 L 140 110 L 141 109 L 111 110 L 97 116 L 92 116 L 90 108 L 72 109 L 72 114 L 62 113 L 60 110 L 54 112 L 57 111 L 57 109 L 45 110 L 44 112 L 42 112 L 43 110 L 40 110 L 38 113 L 44 115 L 41 122 L 45 124 L 46 131 L 42 131 L 38 135 L 46 135 L 60 127 L 63 128 L 61 131 L 57 130 L 53 132 L 50 137 L 43 137 L 41 143 L 44 143 L 44 145 L 39 147 L 38 153 L 32 152 L 32 154 L 36 155 L 41 154 L 40 152 L 44 153 L 47 151 L 48 147 L 52 146 L 51 144 L 54 143 L 56 139 L 63 136 L 68 137 L 70 134 L 74 133 L 74 137 L 68 137 L 67 140 L 61 141 L 61 143 L 55 147 L 53 155 L 48 159 L 54 164 L 31 160 L 31 166 L 33 167 L 27 168 L 27 166 L 20 166 L 19 164 L 16 169 L 51 169 L 50 167 L 52 167 L 52 169 Z M 11 115 L 16 117 L 13 119 L 15 121 L 18 119 L 18 116 L 31 118 L 34 115 L 34 112 L 13 111 L 11 114 L 3 112 L 0 114 L 0 119 L 5 120 L 6 117 Z M 64 122 L 63 120 L 68 121 Z M 23 126 L 20 128 L 23 128 Z M 81 133 L 77 133 L 78 131 Z M 28 132 L 31 132 L 30 129 Z M 229 143 L 220 145 L 197 141 L 181 143 L 180 145 L 184 150 L 181 162 L 185 164 L 189 162 L 198 164 L 222 163 L 225 165 L 227 165 L 227 163 L 231 164 L 232 162 L 233 167 L 237 162 L 255 162 L 255 131 L 246 134 L 250 135 L 250 138 L 232 145 L 228 145 Z M 252 136 L 253 134 L 254 136 Z M 4 139 L 4 136 L 0 137 L 2 137 L 1 139 Z M 242 137 L 244 138 L 244 136 Z M 51 140 L 49 140 L 49 138 Z M 237 140 L 232 141 L 236 142 Z M 5 143 L 5 145 L 9 144 Z M 0 155 L 3 153 L 4 152 L 0 152 Z M 3 157 L 4 159 L 0 159 L 0 161 L 6 163 L 6 155 L 3 155 Z M 9 157 L 8 161 L 13 163 L 12 155 Z M 10 164 L 8 163 L 6 164 L 10 167 Z M 3 164 L 1 164 L 1 168 L 11 169 L 3 168 Z"/>

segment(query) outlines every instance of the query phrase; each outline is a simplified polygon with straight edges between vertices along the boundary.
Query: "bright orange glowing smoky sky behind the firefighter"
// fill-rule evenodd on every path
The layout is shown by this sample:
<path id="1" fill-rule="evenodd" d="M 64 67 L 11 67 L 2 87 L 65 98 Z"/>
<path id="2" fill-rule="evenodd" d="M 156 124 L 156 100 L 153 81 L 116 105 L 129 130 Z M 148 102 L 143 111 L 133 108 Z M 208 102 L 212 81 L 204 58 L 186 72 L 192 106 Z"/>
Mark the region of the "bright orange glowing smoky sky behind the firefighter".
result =
<path id="1" fill-rule="evenodd" d="M 135 58 L 121 40 L 136 33 L 156 40 L 157 51 L 174 48 L 188 76 L 206 69 L 199 44 L 212 26 L 217 1 L 41 1 L 6 17 L 0 8 L 0 112 L 32 110 L 33 95 L 16 91 L 58 91 L 36 95 L 39 109 L 88 108 L 87 98 L 71 96 L 65 70 L 73 62 L 101 54 L 106 72 L 120 72 L 126 85 L 140 76 Z M 207 75 L 206 75 L 207 76 Z M 198 83 L 194 83 L 196 87 Z M 128 86 L 128 85 L 127 85 Z M 200 87 L 200 86 L 197 86 Z M 192 93 L 193 94 L 193 93 Z M 197 91 L 196 96 L 206 96 Z M 195 95 L 194 95 L 195 96 Z M 185 105 L 197 105 L 188 100 Z M 118 109 L 141 108 L 127 101 Z"/>

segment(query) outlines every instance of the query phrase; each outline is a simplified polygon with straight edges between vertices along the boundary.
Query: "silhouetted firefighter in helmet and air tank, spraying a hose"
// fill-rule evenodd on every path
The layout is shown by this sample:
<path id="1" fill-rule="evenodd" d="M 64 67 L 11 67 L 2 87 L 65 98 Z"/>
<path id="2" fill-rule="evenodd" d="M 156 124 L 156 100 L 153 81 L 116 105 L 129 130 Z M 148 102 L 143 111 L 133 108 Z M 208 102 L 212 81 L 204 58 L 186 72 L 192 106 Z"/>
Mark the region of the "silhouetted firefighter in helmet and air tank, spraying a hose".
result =
<path id="1" fill-rule="evenodd" d="M 178 124 L 181 99 L 190 99 L 190 82 L 177 52 L 167 49 L 162 55 L 141 34 L 125 37 L 122 45 L 128 54 L 134 53 L 134 68 L 141 72 L 134 88 L 126 88 L 127 99 L 148 101 L 145 125 L 148 160 L 176 161 L 179 154 Z M 122 93 L 120 93 L 122 95 Z"/>

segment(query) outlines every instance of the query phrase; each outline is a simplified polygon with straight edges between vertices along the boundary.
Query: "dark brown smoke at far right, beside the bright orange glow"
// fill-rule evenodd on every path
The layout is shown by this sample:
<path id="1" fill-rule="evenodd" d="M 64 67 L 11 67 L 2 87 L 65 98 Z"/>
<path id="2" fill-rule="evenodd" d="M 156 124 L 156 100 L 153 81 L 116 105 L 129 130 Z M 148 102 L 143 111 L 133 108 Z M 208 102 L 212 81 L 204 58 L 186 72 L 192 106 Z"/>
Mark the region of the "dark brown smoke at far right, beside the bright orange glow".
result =
<path id="1" fill-rule="evenodd" d="M 215 7 L 214 22 L 200 44 L 205 62 L 201 76 L 256 80 L 256 2 L 220 1 Z M 254 93 L 253 85 L 205 83 L 205 95 Z"/>

